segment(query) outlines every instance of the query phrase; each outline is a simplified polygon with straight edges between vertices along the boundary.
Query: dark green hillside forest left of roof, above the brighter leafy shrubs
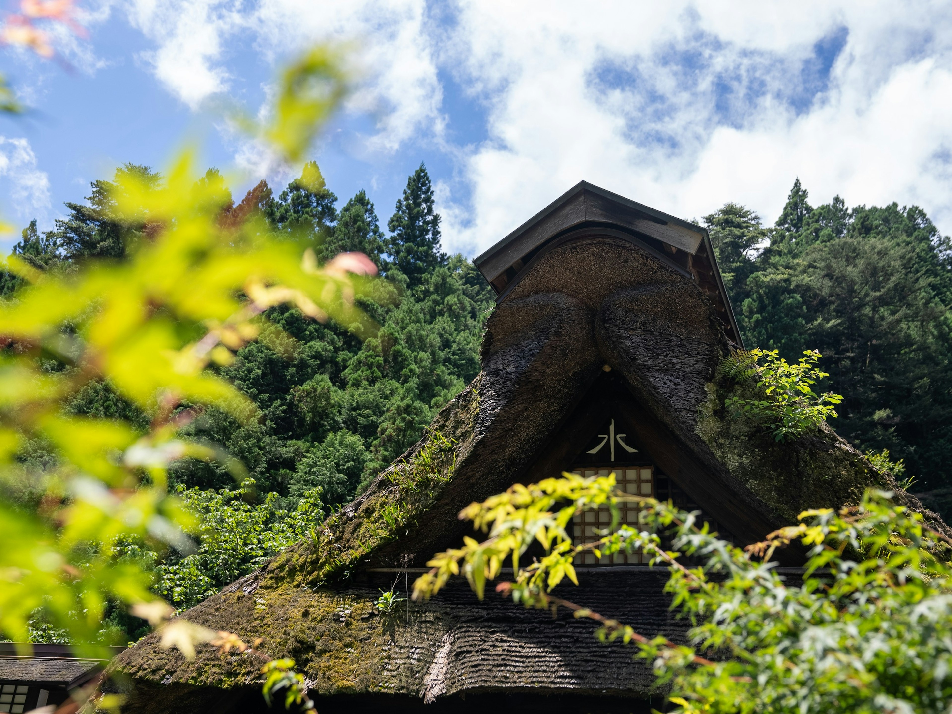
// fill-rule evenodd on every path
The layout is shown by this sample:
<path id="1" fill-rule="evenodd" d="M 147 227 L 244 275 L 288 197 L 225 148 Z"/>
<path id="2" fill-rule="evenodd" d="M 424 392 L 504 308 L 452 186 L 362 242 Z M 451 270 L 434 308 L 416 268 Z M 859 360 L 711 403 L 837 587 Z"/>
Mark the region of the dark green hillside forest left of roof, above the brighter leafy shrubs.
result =
<path id="1" fill-rule="evenodd" d="M 145 167 L 117 171 L 126 172 L 159 178 Z M 211 169 L 202 181 L 221 177 Z M 127 226 L 111 215 L 114 186 L 93 182 L 86 204 L 67 204 L 67 217 L 46 233 L 31 223 L 14 251 L 38 268 L 69 269 L 88 257 L 122 259 L 148 227 Z M 476 268 L 462 255 L 440 250 L 440 216 L 423 165 L 407 180 L 388 237 L 365 191 L 339 212 L 336 201 L 320 169 L 309 163 L 276 198 L 262 181 L 239 204 L 226 201 L 222 220 L 258 212 L 269 229 L 310 243 L 321 258 L 367 253 L 387 278 L 363 305 L 379 331 L 362 342 L 346 327 L 274 308 L 262 339 L 223 367 L 251 397 L 258 417 L 241 423 L 209 408 L 188 426 L 194 438 L 237 457 L 259 491 L 296 499 L 320 486 L 329 506 L 347 503 L 414 444 L 436 410 L 476 376 L 482 327 L 493 305 L 492 290 Z M 8 294 L 19 282 L 9 274 L 3 279 Z M 148 424 L 108 385 L 88 387 L 72 408 Z M 173 478 L 185 486 L 236 486 L 226 466 L 199 461 L 179 465 Z"/>

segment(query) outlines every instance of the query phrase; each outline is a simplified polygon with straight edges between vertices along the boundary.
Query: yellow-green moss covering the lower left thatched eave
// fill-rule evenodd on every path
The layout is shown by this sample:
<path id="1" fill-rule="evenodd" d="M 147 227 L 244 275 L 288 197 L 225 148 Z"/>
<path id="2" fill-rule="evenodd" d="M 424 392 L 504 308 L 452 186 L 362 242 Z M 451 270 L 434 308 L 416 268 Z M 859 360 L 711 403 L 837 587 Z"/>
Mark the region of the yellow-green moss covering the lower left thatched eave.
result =
<path id="1" fill-rule="evenodd" d="M 263 576 L 250 576 L 237 588 L 192 608 L 188 619 L 211 627 L 227 622 L 248 642 L 261 638 L 257 649 L 270 657 L 294 658 L 316 694 L 418 693 L 431 659 L 421 647 L 425 650 L 427 641 L 438 643 L 449 625 L 441 613 L 414 608 L 413 618 L 405 621 L 376 607 L 376 591 L 296 587 Z M 129 649 L 121 668 L 140 684 L 169 687 L 167 695 L 193 687 L 227 690 L 262 681 L 262 659 L 249 651 L 221 655 L 210 645 L 200 645 L 189 662 L 177 650 L 158 647 L 157 639 L 149 635 Z M 413 647 L 415 658 L 407 656 Z M 138 701 L 136 710 L 148 711 L 148 700 Z"/>

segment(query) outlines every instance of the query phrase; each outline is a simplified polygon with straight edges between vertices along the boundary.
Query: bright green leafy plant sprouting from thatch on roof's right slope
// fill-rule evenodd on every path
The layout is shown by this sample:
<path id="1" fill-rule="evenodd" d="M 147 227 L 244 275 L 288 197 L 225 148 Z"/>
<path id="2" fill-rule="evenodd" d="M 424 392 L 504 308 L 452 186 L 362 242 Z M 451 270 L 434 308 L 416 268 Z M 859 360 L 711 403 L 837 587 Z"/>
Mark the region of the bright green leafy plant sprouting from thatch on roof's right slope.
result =
<path id="1" fill-rule="evenodd" d="M 756 376 L 757 387 L 764 389 L 764 398 L 728 397 L 724 406 L 768 426 L 779 442 L 815 431 L 829 417 L 837 416 L 836 405 L 843 397 L 813 391 L 811 385 L 829 375 L 817 367 L 820 352 L 807 350 L 803 354 L 795 365 L 787 364 L 776 349 L 731 355 L 722 366 L 724 372 L 738 381 Z M 759 364 L 762 358 L 763 365 Z"/>

